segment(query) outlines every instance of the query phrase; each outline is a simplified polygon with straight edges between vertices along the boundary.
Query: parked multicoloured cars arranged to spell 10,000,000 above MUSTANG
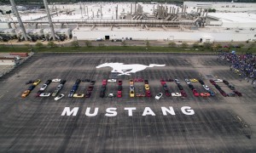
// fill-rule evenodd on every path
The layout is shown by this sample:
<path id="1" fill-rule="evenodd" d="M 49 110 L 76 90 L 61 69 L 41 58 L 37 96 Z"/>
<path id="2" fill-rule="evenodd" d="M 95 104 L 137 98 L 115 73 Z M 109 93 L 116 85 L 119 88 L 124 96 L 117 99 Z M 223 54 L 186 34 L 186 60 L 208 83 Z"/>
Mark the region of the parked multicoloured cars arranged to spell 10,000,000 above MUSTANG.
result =
<path id="1" fill-rule="evenodd" d="M 30 85 L 22 94 L 21 97 L 22 98 L 26 98 L 29 94 L 32 93 L 32 90 L 34 88 L 36 88 L 38 86 L 38 84 L 41 82 L 40 79 L 37 79 L 35 81 L 29 80 L 26 82 L 27 84 L 32 84 Z M 51 82 L 58 82 L 56 88 L 54 91 L 52 92 L 45 92 L 47 90 L 47 88 L 49 87 L 49 84 Z M 83 93 L 78 93 L 77 90 L 79 89 L 79 85 L 81 82 L 89 82 L 87 88 L 85 89 L 85 91 Z M 142 90 L 138 90 L 137 87 L 142 86 L 142 84 L 140 84 L 139 82 L 143 83 L 143 92 Z M 203 82 L 201 79 L 196 79 L 196 78 L 185 78 L 184 79 L 185 84 L 188 85 L 188 87 L 190 88 L 192 94 L 195 97 L 211 97 L 211 96 L 215 96 L 216 92 L 214 92 L 212 90 L 212 88 L 210 88 L 209 86 L 207 86 L 207 84 L 205 84 L 205 82 Z M 241 96 L 242 94 L 236 90 L 235 86 L 230 84 L 230 82 L 226 81 L 226 80 L 221 80 L 221 79 L 211 79 L 209 80 L 209 82 L 212 83 L 212 85 L 218 89 L 218 92 L 220 94 L 222 94 L 224 97 L 235 97 L 235 96 Z M 59 78 L 55 78 L 55 79 L 51 79 L 51 80 L 47 80 L 46 82 L 44 82 L 44 84 L 39 88 L 38 92 L 35 94 L 35 97 L 49 97 L 52 96 L 54 97 L 55 100 L 59 100 L 62 99 L 64 97 L 64 94 L 59 94 L 61 89 L 64 87 L 64 84 L 66 83 L 66 80 L 61 80 Z M 90 79 L 77 79 L 74 84 L 73 87 L 71 88 L 69 94 L 67 94 L 67 97 L 69 98 L 90 98 L 93 89 L 94 89 L 94 85 L 95 85 L 96 81 L 95 80 L 90 80 Z M 108 83 L 113 83 L 116 84 L 115 91 L 112 91 L 108 94 L 106 94 L 107 88 L 108 88 Z M 150 87 L 149 87 L 149 83 L 147 79 L 143 79 L 142 77 L 138 77 L 138 78 L 134 78 L 134 79 L 130 79 L 129 82 L 127 82 L 129 84 L 129 97 L 131 98 L 135 98 L 135 97 L 148 97 L 150 98 L 152 96 L 151 91 L 150 91 Z M 171 84 L 172 83 L 172 84 Z M 203 88 L 203 92 L 198 92 L 198 90 L 194 87 L 194 83 L 199 83 L 201 85 L 201 87 Z M 218 83 L 224 83 L 225 86 L 227 86 L 228 88 L 230 88 L 229 93 L 225 92 L 220 85 L 218 85 Z M 168 87 L 168 85 L 169 87 Z M 101 98 L 122 98 L 123 97 L 123 81 L 122 80 L 117 80 L 117 79 L 102 79 L 102 87 L 100 88 L 100 94 L 99 97 Z M 163 97 L 163 95 L 165 95 L 166 97 L 187 97 L 188 94 L 185 92 L 182 83 L 177 79 L 160 79 L 160 85 L 162 86 L 161 91 L 159 91 L 159 93 L 155 94 L 154 99 L 160 99 L 161 97 Z M 109 85 L 111 86 L 111 85 Z M 171 88 L 170 88 L 171 87 Z M 197 87 L 198 88 L 198 87 Z M 202 90 L 200 90 L 202 91 Z"/>

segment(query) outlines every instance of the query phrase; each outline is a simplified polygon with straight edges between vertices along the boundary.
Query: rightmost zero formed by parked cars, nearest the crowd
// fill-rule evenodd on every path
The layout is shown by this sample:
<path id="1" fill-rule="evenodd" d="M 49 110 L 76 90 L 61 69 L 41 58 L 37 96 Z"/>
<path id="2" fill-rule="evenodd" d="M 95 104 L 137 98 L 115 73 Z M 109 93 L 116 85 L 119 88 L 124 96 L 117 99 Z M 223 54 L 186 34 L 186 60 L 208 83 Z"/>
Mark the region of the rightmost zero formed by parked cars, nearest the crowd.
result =
<path id="1" fill-rule="evenodd" d="M 226 80 L 221 80 L 221 79 L 217 79 L 217 80 L 209 80 L 212 85 L 218 89 L 219 93 L 222 94 L 224 97 L 235 97 L 236 95 L 241 96 L 242 94 L 236 90 L 236 88 L 234 86 L 232 86 L 230 84 L 230 82 L 226 81 Z M 228 88 L 230 88 L 230 90 L 232 91 L 231 93 L 226 93 L 224 92 L 224 90 L 222 88 L 220 88 L 220 86 L 217 84 L 217 82 L 224 82 L 225 85 L 227 85 Z"/>

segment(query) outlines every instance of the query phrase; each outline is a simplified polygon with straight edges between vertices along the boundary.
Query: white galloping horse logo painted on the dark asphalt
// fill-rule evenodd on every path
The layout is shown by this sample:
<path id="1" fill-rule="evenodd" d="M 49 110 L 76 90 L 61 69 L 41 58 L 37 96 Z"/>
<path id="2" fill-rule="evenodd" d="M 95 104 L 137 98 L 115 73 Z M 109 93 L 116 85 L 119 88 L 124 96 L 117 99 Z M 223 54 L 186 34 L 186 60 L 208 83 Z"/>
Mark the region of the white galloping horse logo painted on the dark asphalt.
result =
<path id="1" fill-rule="evenodd" d="M 144 69 L 148 67 L 154 67 L 154 66 L 165 66 L 165 65 L 140 65 L 140 64 L 132 64 L 132 65 L 124 65 L 124 63 L 104 63 L 102 65 L 97 65 L 96 68 L 102 68 L 102 67 L 112 67 L 111 72 L 118 72 L 118 76 L 122 75 L 128 75 L 130 76 L 131 73 L 136 73 L 137 71 L 143 71 Z"/>

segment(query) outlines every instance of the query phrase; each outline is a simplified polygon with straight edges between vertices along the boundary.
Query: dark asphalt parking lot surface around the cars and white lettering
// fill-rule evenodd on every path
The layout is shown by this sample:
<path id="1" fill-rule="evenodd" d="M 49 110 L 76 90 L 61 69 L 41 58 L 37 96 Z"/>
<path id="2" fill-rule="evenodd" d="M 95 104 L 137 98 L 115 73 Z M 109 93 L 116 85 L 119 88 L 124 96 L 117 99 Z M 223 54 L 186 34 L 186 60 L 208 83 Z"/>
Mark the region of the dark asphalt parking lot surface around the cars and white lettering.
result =
<path id="1" fill-rule="evenodd" d="M 118 76 L 110 67 L 96 69 L 103 63 L 125 65 L 166 65 L 148 67 L 130 76 Z M 49 79 L 67 80 L 61 89 L 65 94 L 35 97 Z M 122 98 L 117 94 L 117 82 L 108 82 L 106 97 L 100 98 L 102 80 L 122 80 Z M 129 80 L 148 80 L 152 97 L 129 94 Z M 179 79 L 187 97 L 163 97 L 160 79 Z M 215 93 L 211 97 L 195 97 L 185 78 L 202 79 Z M 225 79 L 232 83 L 241 97 L 224 97 L 209 79 Z M 26 98 L 21 94 L 30 86 L 25 82 L 42 82 Z M 68 98 L 77 79 L 96 80 L 90 98 Z M 51 82 L 45 92 L 52 93 L 58 82 Z M 192 82 L 198 92 L 206 92 L 199 82 Z M 231 92 L 223 82 L 218 84 Z M 81 82 L 77 93 L 85 94 L 90 82 Z M 144 83 L 135 82 L 135 93 L 144 94 Z M 167 82 L 171 92 L 178 92 L 175 82 Z M 15 70 L 0 78 L 0 151 L 40 152 L 255 152 L 256 151 L 256 90 L 239 81 L 229 66 L 214 54 L 34 54 Z M 175 115 L 163 115 L 161 107 L 173 107 Z M 189 106 L 195 111 L 188 116 L 181 111 Z M 76 116 L 61 116 L 65 107 L 79 107 Z M 96 116 L 86 116 L 98 108 Z M 135 107 L 128 116 L 127 107 Z M 143 116 L 149 107 L 155 116 Z M 116 108 L 116 116 L 106 116 L 106 109 Z"/>

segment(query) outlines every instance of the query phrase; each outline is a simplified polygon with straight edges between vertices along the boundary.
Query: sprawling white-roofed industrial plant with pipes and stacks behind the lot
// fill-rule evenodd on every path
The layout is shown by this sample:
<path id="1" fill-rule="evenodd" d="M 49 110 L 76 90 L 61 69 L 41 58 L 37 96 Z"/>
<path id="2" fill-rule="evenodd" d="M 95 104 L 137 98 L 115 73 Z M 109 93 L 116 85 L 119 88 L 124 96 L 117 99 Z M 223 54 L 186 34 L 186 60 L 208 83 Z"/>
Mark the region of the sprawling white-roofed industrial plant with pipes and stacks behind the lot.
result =
<path id="1" fill-rule="evenodd" d="M 102 38 L 230 42 L 256 39 L 255 3 L 184 2 L 182 6 L 167 3 L 74 3 L 45 6 L 46 12 L 42 9 L 33 10 L 31 14 L 19 11 L 21 21 L 17 15 L 2 15 L 1 24 L 5 23 L 9 31 L 16 29 L 15 37 L 20 41 Z M 216 8 L 217 12 L 210 13 L 208 8 Z M 236 8 L 242 11 L 236 11 Z M 7 37 L 7 33 L 1 32 L 0 39 Z M 9 36 L 9 39 L 15 37 Z"/>

